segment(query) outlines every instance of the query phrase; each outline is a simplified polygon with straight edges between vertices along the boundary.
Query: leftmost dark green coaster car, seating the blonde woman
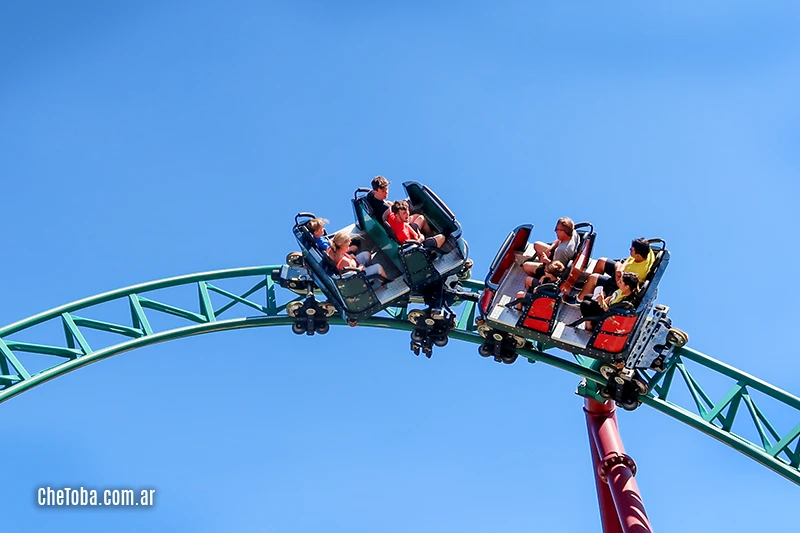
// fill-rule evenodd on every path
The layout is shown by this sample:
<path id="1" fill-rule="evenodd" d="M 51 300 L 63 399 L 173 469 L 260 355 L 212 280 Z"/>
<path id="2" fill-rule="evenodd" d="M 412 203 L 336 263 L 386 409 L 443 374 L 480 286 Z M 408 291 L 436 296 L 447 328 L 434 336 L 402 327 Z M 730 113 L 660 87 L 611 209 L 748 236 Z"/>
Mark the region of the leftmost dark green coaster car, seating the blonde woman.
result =
<path id="1" fill-rule="evenodd" d="M 317 303 L 317 307 L 321 309 L 309 304 L 309 308 L 313 310 L 311 314 L 319 315 L 322 312 L 332 316 L 338 312 L 351 325 L 386 307 L 407 305 L 410 288 L 397 267 L 379 247 L 375 246 L 369 235 L 358 230 L 355 225 L 341 230 L 348 233 L 354 241 L 358 240 L 361 251 L 374 252 L 372 263 L 381 264 L 389 278 L 378 274 L 368 275 L 363 270 L 355 268 L 345 268 L 340 272 L 328 254 L 319 248 L 309 231 L 308 222 L 314 218 L 313 213 L 298 213 L 295 216 L 292 232 L 302 251 L 294 252 L 287 257 L 287 265 L 281 267 L 279 271 L 278 281 L 281 286 L 292 289 L 292 283 L 297 285 L 298 280 L 306 276 L 310 280 L 306 301 L 316 301 L 314 290 L 321 291 L 328 298 L 328 302 Z M 303 270 L 305 274 L 300 274 L 299 272 Z M 297 303 L 299 302 L 295 302 Z M 287 307 L 287 313 L 291 315 L 290 311 L 291 309 Z M 306 307 L 298 307 L 295 312 L 299 313 L 301 318 L 308 314 Z"/>

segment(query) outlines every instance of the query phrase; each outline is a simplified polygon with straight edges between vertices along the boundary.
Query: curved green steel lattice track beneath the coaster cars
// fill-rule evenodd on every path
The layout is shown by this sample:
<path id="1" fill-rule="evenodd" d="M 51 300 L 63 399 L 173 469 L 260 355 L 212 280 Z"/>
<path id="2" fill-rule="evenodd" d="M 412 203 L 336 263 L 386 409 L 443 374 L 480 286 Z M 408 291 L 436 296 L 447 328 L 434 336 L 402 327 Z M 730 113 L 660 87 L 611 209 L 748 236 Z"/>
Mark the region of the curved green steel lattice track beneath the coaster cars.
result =
<path id="1" fill-rule="evenodd" d="M 0 328 L 0 402 L 143 346 L 215 331 L 289 325 L 293 319 L 286 316 L 286 305 L 299 297 L 273 283 L 270 274 L 277 268 L 280 265 L 218 270 L 143 283 Z M 472 280 L 465 285 L 473 291 L 483 288 Z M 458 325 L 450 338 L 480 344 L 475 304 L 464 302 L 456 310 Z M 345 325 L 340 318 L 332 318 L 330 323 Z M 389 309 L 359 326 L 413 328 L 405 320 L 404 309 Z M 578 393 L 601 399 L 598 386 L 606 381 L 597 372 L 595 360 L 566 359 L 563 352 L 538 348 L 519 353 L 530 362 L 581 376 Z M 644 405 L 724 442 L 800 485 L 800 398 L 690 348 L 679 350 L 666 372 L 648 377 L 651 392 L 642 399 Z M 773 420 L 777 413 L 784 419 L 787 412 L 795 420 L 793 426 L 780 428 L 770 422 L 770 414 Z"/>

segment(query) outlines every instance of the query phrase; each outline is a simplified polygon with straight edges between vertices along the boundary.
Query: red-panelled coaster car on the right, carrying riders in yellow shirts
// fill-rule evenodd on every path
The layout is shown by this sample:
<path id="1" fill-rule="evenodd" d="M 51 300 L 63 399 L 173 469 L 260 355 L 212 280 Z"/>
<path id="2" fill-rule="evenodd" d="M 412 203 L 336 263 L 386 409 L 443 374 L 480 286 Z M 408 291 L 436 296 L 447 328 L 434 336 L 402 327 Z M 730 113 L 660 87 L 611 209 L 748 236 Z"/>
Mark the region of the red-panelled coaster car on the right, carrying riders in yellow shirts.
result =
<path id="1" fill-rule="evenodd" d="M 612 377 L 630 382 L 636 369 L 662 370 L 671 349 L 686 344 L 685 333 L 664 327 L 668 308 L 656 306 L 653 311 L 658 283 L 669 263 L 669 252 L 661 239 L 649 241 L 655 261 L 637 301 L 612 305 L 603 315 L 590 317 L 596 321 L 593 331 L 586 329 L 579 306 L 564 303 L 562 295 L 569 297 L 594 268 L 591 251 L 596 234 L 589 223 L 575 226 L 580 237 L 578 248 L 558 282 L 540 285 L 535 292 L 527 293 L 518 301 L 521 309 L 517 310 L 517 291 L 525 290 L 521 264 L 525 257 L 533 255 L 528 243 L 532 229 L 532 225 L 523 225 L 512 231 L 492 262 L 479 306 L 482 323 L 478 331 L 486 338 L 481 355 L 494 354 L 495 359 L 507 360 L 515 347 L 529 339 L 609 363 L 609 368 L 620 370 Z M 665 342 L 654 343 L 657 335 L 664 335 Z"/>

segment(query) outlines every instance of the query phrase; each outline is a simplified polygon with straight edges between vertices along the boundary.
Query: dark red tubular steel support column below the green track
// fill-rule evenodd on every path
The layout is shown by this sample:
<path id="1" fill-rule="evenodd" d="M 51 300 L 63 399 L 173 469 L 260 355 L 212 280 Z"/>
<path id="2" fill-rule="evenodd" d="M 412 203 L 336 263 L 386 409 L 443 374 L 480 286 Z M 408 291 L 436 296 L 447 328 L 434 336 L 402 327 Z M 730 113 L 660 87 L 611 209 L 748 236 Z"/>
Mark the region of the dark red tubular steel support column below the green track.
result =
<path id="1" fill-rule="evenodd" d="M 634 479 L 636 463 L 625 454 L 614 403 L 586 398 L 583 410 L 592 448 L 603 532 L 652 533 Z"/>

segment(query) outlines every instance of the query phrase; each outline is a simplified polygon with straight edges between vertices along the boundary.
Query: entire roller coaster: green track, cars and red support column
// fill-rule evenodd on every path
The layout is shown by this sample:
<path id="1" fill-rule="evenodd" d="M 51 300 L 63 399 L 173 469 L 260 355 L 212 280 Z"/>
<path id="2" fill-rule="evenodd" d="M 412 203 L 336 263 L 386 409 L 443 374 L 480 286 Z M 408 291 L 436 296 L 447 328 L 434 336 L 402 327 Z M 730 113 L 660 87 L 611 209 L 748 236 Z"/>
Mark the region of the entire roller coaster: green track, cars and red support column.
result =
<path id="1" fill-rule="evenodd" d="M 269 326 L 289 326 L 308 336 L 324 334 L 330 326 L 391 328 L 411 332 L 411 349 L 418 355 L 430 357 L 433 346 L 457 340 L 478 345 L 481 355 L 502 363 L 524 359 L 575 374 L 606 532 L 652 530 L 636 487 L 636 465 L 617 431 L 615 404 L 656 409 L 800 485 L 800 398 L 685 346 L 685 334 L 671 328 L 668 309 L 655 303 L 663 275 L 658 265 L 665 268 L 668 262 L 663 241 L 653 241 L 661 255 L 646 280 L 652 292 L 645 291 L 634 306 L 593 317 L 593 332 L 577 331 L 574 316 L 561 317 L 556 291 L 568 296 L 575 269 L 586 267 L 590 225 L 576 226 L 584 230 L 582 246 L 560 283 L 514 302 L 502 285 L 519 277 L 516 267 L 529 228 L 509 235 L 485 282 L 470 279 L 468 248 L 455 217 L 426 187 L 405 185 L 414 209 L 425 213 L 434 231 L 447 233 L 442 246 L 396 242 L 370 212 L 365 190 L 356 191 L 356 222 L 344 231 L 386 258 L 386 276 L 370 277 L 357 268 L 335 272 L 336 265 L 327 264 L 306 231 L 313 215 L 300 213 L 293 231 L 302 251 L 289 254 L 284 264 L 142 283 L 0 328 L 0 403 L 102 359 L 194 335 Z M 187 291 L 194 301 L 187 301 Z M 509 304 L 520 304 L 519 310 Z M 606 321 L 614 327 L 604 327 Z M 572 340 L 566 328 L 574 330 Z M 90 331 L 106 335 L 90 336 Z M 711 375 L 715 384 L 725 381 L 726 392 L 712 395 L 698 374 Z M 770 422 L 771 413 L 787 410 L 797 420 L 793 427 Z"/>

